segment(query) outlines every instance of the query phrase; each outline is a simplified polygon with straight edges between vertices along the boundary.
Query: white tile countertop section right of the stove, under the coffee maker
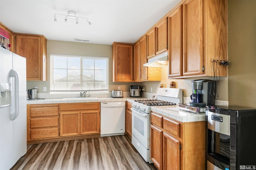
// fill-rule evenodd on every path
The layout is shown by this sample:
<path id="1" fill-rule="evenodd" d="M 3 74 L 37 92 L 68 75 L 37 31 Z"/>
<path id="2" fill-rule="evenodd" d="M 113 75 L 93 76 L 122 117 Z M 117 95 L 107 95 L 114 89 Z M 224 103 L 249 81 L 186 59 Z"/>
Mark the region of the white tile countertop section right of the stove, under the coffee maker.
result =
<path id="1" fill-rule="evenodd" d="M 192 113 L 179 109 L 179 105 L 176 106 L 151 106 L 151 111 L 158 114 L 170 117 L 180 122 L 194 122 L 194 121 L 205 121 L 205 113 Z"/>

